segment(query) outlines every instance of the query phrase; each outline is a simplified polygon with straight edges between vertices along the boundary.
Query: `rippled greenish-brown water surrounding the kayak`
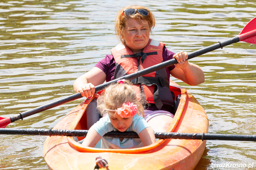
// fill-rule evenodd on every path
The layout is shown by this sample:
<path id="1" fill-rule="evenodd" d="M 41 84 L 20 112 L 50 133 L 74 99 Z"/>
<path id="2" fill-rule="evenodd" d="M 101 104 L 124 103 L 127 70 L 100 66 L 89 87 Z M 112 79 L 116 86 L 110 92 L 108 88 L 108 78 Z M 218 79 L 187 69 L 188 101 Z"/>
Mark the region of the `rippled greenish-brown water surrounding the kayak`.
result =
<path id="1" fill-rule="evenodd" d="M 114 21 L 124 5 L 140 4 L 156 17 L 154 38 L 174 52 L 188 51 L 238 35 L 256 16 L 249 0 L 29 1 L 0 2 L 0 115 L 8 117 L 74 94 L 74 80 L 117 45 Z M 209 133 L 255 134 L 256 48 L 239 42 L 191 59 L 205 82 L 189 86 L 209 118 Z M 50 128 L 81 100 L 9 124 Z M 45 136 L 0 135 L 0 169 L 47 169 Z M 208 140 L 196 169 L 248 169 L 254 142 Z M 232 164 L 247 167 L 232 167 Z M 223 166 L 225 164 L 225 168 Z M 231 164 L 231 165 L 230 165 Z M 217 167 L 218 166 L 218 167 Z"/>

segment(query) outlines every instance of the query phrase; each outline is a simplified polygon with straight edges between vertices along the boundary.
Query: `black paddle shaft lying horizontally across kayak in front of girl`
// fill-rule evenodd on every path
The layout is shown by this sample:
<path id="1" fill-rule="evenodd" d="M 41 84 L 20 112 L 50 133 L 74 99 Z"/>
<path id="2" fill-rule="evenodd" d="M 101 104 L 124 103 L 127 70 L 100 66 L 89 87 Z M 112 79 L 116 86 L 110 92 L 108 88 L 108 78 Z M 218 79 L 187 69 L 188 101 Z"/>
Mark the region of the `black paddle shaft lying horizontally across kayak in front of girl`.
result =
<path id="1" fill-rule="evenodd" d="M 66 129 L 0 129 L 0 134 L 5 135 L 44 135 L 44 136 L 83 136 L 88 130 L 66 130 Z M 136 132 L 108 132 L 105 137 L 139 138 Z M 177 133 L 177 132 L 155 132 L 158 139 L 191 139 L 191 140 L 239 140 L 256 141 L 256 135 L 233 135 L 233 134 L 210 134 L 210 133 Z"/>

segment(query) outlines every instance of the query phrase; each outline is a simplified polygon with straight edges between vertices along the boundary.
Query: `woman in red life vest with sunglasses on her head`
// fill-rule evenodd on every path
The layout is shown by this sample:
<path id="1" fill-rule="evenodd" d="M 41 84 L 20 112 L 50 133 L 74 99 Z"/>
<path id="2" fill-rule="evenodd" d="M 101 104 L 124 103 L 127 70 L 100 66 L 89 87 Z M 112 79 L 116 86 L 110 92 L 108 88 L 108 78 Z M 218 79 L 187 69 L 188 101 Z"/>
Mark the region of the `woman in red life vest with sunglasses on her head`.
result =
<path id="1" fill-rule="evenodd" d="M 122 43 L 111 50 L 95 67 L 74 82 L 75 92 L 89 97 L 95 93 L 95 86 L 105 80 L 131 74 L 138 70 L 175 58 L 178 63 L 166 69 L 139 77 L 133 82 L 137 94 L 149 103 L 145 111 L 145 119 L 155 132 L 166 131 L 173 119 L 173 93 L 169 90 L 170 74 L 188 85 L 198 85 L 204 82 L 202 69 L 186 59 L 187 52 L 174 54 L 167 50 L 165 44 L 149 38 L 155 26 L 152 12 L 141 6 L 127 6 L 120 10 L 116 17 L 115 33 Z M 157 115 L 157 116 L 156 116 Z"/>

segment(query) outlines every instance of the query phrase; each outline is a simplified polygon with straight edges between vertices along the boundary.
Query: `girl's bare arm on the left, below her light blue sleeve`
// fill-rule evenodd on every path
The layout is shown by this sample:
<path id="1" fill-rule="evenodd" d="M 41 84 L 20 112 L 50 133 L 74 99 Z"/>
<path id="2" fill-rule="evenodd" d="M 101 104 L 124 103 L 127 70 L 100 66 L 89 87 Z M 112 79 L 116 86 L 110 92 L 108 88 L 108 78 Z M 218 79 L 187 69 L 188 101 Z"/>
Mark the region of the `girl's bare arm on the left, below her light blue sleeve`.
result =
<path id="1" fill-rule="evenodd" d="M 101 135 L 99 135 L 98 132 L 96 132 L 96 130 L 91 127 L 88 130 L 88 133 L 87 133 L 82 145 L 94 147 L 100 139 L 101 139 Z"/>

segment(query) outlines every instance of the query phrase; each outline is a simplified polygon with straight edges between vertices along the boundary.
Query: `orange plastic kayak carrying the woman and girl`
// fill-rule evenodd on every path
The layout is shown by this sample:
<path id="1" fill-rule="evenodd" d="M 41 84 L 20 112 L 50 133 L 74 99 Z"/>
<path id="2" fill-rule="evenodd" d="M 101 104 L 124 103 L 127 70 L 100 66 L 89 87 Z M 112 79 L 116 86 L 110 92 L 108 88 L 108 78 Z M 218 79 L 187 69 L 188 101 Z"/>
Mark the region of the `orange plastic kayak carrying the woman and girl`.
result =
<path id="1" fill-rule="evenodd" d="M 200 103 L 175 82 L 170 80 L 177 110 L 166 132 L 207 133 L 206 112 Z M 92 98 L 71 110 L 53 129 L 88 129 L 87 111 Z M 87 110 L 88 109 L 88 110 Z M 77 137 L 82 140 L 84 137 Z M 96 157 L 108 162 L 110 170 L 194 169 L 205 149 L 206 140 L 159 139 L 155 143 L 132 149 L 101 149 L 85 147 L 74 137 L 51 136 L 44 143 L 43 155 L 49 169 L 91 169 Z"/>

